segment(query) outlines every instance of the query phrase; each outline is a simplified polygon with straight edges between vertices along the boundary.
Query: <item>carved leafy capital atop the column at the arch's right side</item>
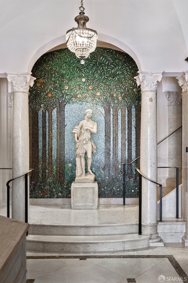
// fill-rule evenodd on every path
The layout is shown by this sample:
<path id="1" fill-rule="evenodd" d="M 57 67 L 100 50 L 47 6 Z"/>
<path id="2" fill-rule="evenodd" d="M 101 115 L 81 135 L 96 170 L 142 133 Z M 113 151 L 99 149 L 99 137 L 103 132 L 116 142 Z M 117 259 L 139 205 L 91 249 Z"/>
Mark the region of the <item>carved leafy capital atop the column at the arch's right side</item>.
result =
<path id="1" fill-rule="evenodd" d="M 137 85 L 141 87 L 141 91 L 156 91 L 157 81 L 161 81 L 163 71 L 160 72 L 142 72 L 138 71 L 139 75 L 134 77 Z"/>

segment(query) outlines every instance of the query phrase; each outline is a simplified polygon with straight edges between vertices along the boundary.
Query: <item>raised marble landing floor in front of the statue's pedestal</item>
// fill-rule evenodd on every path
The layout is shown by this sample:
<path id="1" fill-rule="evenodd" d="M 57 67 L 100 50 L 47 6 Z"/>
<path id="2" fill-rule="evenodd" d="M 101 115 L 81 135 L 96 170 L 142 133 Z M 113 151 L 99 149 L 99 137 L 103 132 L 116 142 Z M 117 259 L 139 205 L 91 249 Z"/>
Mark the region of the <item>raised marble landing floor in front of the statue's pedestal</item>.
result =
<path id="1" fill-rule="evenodd" d="M 0 208 L 0 215 L 6 216 L 6 207 Z M 138 205 L 98 205 L 98 209 L 90 210 L 75 210 L 70 205 L 29 205 L 28 222 L 54 225 L 138 223 Z"/>

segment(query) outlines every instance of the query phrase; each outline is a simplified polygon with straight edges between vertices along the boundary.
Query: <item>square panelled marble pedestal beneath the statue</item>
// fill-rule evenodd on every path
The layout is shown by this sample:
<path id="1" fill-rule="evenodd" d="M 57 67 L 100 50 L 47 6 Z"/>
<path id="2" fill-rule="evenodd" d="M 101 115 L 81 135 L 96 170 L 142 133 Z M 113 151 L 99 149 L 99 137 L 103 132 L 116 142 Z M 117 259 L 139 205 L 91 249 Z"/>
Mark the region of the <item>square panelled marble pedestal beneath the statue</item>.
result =
<path id="1" fill-rule="evenodd" d="M 75 183 L 71 185 L 71 209 L 97 209 L 98 184 Z"/>

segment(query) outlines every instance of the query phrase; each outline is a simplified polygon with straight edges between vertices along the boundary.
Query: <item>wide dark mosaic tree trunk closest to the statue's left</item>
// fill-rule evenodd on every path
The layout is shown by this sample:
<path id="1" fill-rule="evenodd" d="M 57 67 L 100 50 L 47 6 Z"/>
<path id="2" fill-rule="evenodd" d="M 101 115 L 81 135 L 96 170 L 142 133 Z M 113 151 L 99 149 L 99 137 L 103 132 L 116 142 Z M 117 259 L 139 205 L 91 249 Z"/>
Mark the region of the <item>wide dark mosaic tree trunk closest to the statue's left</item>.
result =
<path id="1" fill-rule="evenodd" d="M 59 124 L 59 181 L 65 182 L 65 101 L 59 103 L 60 124 Z"/>

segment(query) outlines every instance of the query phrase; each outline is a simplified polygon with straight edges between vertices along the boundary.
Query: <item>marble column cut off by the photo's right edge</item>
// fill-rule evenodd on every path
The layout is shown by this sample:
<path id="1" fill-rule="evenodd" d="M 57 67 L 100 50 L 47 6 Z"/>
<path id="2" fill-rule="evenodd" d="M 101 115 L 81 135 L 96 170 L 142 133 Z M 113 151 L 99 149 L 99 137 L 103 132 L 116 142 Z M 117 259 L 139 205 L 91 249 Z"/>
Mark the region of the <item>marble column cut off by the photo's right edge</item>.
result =
<path id="1" fill-rule="evenodd" d="M 182 87 L 182 218 L 185 221 L 184 246 L 188 246 L 188 70 L 177 77 Z"/>

